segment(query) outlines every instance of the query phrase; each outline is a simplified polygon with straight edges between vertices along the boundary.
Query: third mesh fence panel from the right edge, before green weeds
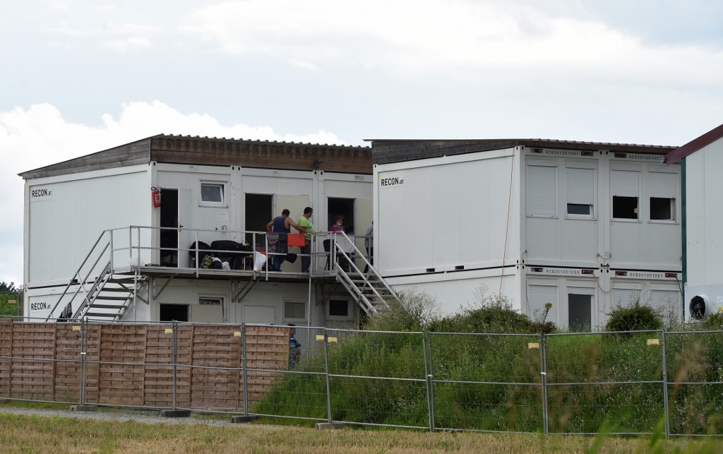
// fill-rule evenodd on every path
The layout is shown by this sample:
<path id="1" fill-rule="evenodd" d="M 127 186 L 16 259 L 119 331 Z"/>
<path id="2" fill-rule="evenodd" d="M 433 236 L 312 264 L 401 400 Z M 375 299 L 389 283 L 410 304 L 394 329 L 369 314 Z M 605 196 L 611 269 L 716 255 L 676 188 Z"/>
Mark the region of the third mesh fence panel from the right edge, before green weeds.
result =
<path id="1" fill-rule="evenodd" d="M 541 432 L 539 336 L 432 333 L 434 427 Z"/>

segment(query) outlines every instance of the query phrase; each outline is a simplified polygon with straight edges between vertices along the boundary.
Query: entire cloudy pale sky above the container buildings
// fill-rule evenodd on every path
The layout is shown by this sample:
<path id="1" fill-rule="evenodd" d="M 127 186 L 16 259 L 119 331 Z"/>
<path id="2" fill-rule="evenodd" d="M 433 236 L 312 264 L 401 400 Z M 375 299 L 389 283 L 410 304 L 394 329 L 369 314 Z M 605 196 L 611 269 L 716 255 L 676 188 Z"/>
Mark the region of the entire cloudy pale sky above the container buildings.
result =
<path id="1" fill-rule="evenodd" d="M 155 134 L 683 145 L 723 123 L 722 18 L 714 0 L 4 1 L 0 280 L 23 282 L 18 173 Z"/>

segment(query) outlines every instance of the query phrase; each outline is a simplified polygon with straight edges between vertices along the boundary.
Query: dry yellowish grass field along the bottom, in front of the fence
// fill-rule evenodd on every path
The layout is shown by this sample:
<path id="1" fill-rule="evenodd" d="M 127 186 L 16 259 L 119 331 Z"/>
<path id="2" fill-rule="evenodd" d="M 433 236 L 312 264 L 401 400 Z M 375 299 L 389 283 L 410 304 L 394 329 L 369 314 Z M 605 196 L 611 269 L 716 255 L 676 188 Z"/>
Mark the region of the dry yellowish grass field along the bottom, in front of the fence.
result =
<path id="1" fill-rule="evenodd" d="M 0 414 L 4 453 L 719 453 L 723 440 L 144 424 Z"/>

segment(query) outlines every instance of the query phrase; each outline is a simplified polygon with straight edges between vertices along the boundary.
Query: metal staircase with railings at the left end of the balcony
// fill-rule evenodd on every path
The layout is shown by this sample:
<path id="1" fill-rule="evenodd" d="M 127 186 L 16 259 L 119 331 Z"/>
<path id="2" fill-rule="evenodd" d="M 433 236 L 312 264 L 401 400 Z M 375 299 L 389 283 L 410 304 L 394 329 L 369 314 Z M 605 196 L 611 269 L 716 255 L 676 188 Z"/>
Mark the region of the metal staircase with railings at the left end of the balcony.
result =
<path id="1" fill-rule="evenodd" d="M 139 296 L 147 278 L 133 271 L 114 273 L 111 262 L 112 233 L 104 231 L 88 252 L 46 320 L 121 320 Z M 71 288 L 77 286 L 74 291 Z M 56 309 L 64 304 L 56 315 Z M 73 307 L 77 309 L 73 311 Z"/>

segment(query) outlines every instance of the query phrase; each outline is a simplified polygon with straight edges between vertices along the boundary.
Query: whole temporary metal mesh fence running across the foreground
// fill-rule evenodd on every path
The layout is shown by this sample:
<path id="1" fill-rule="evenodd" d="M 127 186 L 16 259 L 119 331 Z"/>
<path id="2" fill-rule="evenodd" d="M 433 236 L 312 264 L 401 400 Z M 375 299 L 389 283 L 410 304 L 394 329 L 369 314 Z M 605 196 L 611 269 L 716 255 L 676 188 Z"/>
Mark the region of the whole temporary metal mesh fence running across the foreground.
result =
<path id="1" fill-rule="evenodd" d="M 291 337 L 293 335 L 293 338 Z M 723 434 L 723 332 L 0 320 L 0 398 L 483 432 Z"/>

